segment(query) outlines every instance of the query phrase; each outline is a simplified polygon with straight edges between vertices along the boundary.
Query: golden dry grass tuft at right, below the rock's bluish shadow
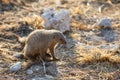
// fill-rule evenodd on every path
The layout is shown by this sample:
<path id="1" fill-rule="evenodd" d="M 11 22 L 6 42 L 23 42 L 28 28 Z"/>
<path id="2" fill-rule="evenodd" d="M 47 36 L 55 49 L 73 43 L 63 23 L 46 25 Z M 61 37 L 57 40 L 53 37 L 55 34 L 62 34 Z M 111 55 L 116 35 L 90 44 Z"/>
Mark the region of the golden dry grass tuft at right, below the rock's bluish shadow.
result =
<path id="1" fill-rule="evenodd" d="M 109 63 L 120 63 L 120 55 L 116 54 L 115 51 L 109 51 L 104 49 L 92 49 L 88 50 L 89 53 L 81 53 L 80 58 L 77 58 L 79 63 L 96 63 L 96 62 L 109 62 Z"/>

